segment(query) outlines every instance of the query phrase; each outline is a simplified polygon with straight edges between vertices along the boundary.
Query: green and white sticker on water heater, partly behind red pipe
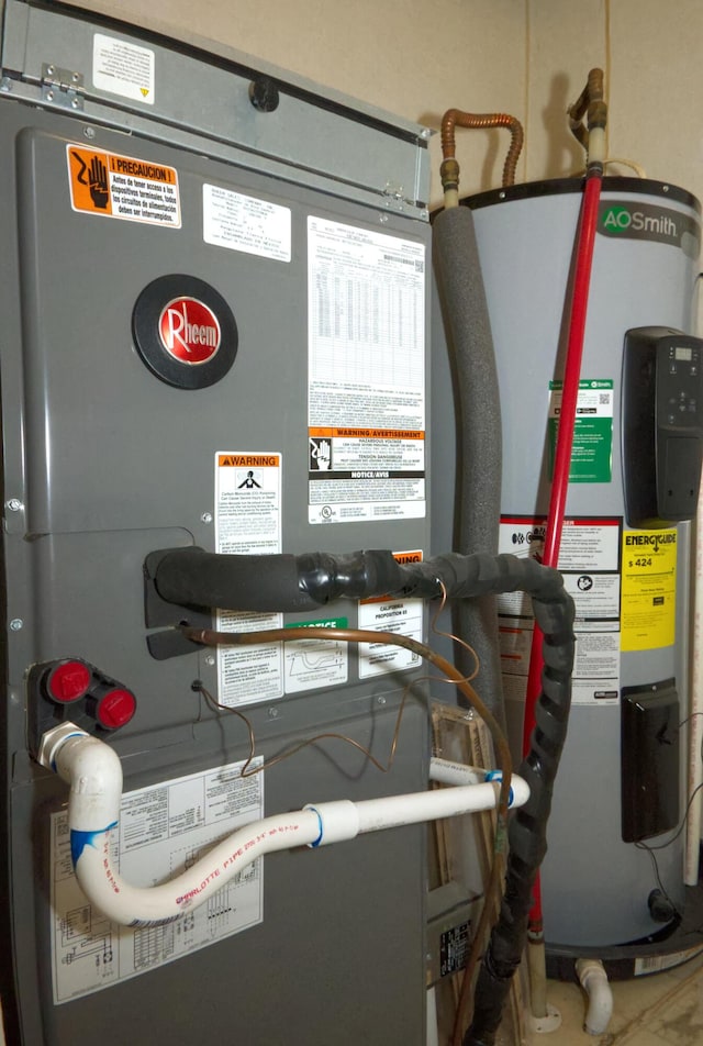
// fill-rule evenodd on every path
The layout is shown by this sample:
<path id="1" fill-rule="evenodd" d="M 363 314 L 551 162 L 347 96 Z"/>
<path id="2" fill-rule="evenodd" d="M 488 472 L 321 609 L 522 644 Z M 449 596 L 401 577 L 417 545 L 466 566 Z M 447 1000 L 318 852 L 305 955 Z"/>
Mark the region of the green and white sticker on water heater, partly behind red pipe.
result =
<path id="1" fill-rule="evenodd" d="M 562 381 L 549 382 L 549 479 L 554 476 Z M 610 483 L 613 478 L 613 382 L 588 378 L 579 382 L 573 425 L 570 483 Z"/>

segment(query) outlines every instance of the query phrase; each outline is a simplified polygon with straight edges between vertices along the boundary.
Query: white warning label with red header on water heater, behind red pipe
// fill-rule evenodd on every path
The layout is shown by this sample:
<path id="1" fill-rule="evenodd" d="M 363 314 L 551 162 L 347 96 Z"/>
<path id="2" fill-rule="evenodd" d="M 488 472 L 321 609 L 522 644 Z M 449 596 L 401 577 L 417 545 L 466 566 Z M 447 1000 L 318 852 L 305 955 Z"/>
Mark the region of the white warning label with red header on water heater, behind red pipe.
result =
<path id="1" fill-rule="evenodd" d="M 503 516 L 499 552 L 542 561 L 546 521 Z M 572 702 L 617 704 L 621 671 L 621 532 L 618 516 L 567 519 L 559 570 L 576 603 Z M 533 636 L 532 601 L 523 592 L 498 597 L 503 687 L 507 700 L 524 701 Z"/>

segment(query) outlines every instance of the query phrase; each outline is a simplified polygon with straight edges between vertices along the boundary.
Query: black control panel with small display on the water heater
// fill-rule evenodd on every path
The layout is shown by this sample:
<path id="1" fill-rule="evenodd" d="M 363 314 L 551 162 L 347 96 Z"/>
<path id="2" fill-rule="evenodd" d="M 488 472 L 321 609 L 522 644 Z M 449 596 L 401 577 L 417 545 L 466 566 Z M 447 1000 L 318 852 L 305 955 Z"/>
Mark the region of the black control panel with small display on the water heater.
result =
<path id="1" fill-rule="evenodd" d="M 622 425 L 629 526 L 694 518 L 703 453 L 703 342 L 670 327 L 627 331 Z"/>

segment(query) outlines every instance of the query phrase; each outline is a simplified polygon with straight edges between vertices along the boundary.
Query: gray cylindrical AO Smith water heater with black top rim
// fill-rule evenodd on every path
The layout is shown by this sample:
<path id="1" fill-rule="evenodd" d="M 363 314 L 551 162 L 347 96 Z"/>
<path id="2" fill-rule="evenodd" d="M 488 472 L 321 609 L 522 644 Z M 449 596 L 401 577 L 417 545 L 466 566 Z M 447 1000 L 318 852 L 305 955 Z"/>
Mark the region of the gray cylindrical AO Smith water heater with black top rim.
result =
<path id="1" fill-rule="evenodd" d="M 500 386 L 500 548 L 518 556 L 538 557 L 544 539 L 581 192 L 571 179 L 464 201 Z M 629 976 L 679 961 L 688 947 L 666 938 L 684 899 L 676 830 L 687 803 L 685 521 L 701 474 L 703 346 L 691 336 L 699 247 L 690 193 L 604 179 L 559 558 L 577 607 L 573 704 L 542 883 L 550 957 L 610 958 L 613 972 Z M 442 349 L 433 374 L 436 403 L 446 402 Z M 446 432 L 442 445 L 450 452 L 453 441 Z M 528 601 L 501 597 L 499 613 L 520 752 Z M 643 844 L 657 847 L 657 870 Z"/>

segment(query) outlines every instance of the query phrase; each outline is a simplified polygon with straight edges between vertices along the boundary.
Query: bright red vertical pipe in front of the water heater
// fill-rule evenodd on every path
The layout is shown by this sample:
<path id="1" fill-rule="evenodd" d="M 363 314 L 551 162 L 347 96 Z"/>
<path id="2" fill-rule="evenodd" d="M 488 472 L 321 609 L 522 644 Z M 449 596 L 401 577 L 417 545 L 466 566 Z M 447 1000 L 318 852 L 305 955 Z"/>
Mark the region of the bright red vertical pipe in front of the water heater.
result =
<path id="1" fill-rule="evenodd" d="M 545 550 L 543 556 L 545 566 L 555 568 L 559 561 L 559 547 L 561 545 L 561 531 L 563 527 L 563 514 L 569 487 L 571 450 L 573 448 L 573 427 L 576 424 L 576 408 L 579 396 L 579 381 L 581 378 L 581 359 L 583 356 L 583 337 L 589 305 L 589 288 L 591 285 L 591 267 L 593 263 L 595 231 L 598 227 L 598 210 L 601 199 L 601 180 L 600 168 L 594 168 L 587 174 L 579 220 L 561 412 L 559 414 L 554 479 L 551 481 L 549 513 L 547 515 L 547 531 L 545 534 Z M 544 666 L 542 644 L 543 633 L 537 626 L 537 622 L 535 622 L 532 648 L 529 652 L 529 670 L 527 675 L 525 720 L 523 724 L 523 754 L 529 750 L 529 737 L 535 727 L 535 706 L 537 698 L 539 697 L 542 669 Z M 542 888 L 538 875 L 533 892 L 529 930 L 531 932 L 542 934 Z"/>

